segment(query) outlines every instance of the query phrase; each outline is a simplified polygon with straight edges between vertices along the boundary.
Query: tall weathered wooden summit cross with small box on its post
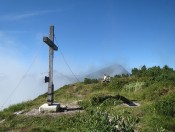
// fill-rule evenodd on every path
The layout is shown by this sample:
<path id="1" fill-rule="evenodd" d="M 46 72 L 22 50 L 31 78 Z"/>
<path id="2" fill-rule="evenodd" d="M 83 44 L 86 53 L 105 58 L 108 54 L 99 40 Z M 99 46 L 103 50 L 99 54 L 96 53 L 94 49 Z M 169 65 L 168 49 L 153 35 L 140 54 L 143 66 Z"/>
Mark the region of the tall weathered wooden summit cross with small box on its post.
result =
<path id="1" fill-rule="evenodd" d="M 54 84 L 53 84 L 53 53 L 57 51 L 58 47 L 54 44 L 54 26 L 50 26 L 50 36 L 43 37 L 43 42 L 49 46 L 49 77 L 45 76 L 45 83 L 48 82 L 48 105 L 54 102 Z"/>

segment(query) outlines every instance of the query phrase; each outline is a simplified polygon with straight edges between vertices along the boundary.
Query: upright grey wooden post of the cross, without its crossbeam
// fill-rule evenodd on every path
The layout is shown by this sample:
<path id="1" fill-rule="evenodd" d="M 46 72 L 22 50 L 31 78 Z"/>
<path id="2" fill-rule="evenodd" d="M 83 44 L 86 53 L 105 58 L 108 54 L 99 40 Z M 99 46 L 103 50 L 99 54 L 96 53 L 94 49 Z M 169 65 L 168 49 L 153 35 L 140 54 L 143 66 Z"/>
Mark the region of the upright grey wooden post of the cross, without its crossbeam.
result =
<path id="1" fill-rule="evenodd" d="M 50 26 L 50 40 L 54 43 L 54 26 Z M 49 83 L 48 83 L 48 104 L 52 105 L 54 101 L 54 85 L 53 85 L 53 53 L 52 47 L 49 47 Z"/>

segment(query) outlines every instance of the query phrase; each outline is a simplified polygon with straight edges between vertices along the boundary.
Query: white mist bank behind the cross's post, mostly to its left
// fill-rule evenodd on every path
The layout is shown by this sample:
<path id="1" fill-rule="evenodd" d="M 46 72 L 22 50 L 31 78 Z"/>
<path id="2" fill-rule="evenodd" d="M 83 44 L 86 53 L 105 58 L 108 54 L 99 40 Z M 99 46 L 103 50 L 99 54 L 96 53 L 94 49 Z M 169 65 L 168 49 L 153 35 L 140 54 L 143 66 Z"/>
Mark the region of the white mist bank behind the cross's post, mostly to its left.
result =
<path id="1" fill-rule="evenodd" d="M 48 60 L 45 59 L 48 58 L 43 59 L 43 51 L 36 50 L 33 53 L 39 53 L 37 58 L 34 55 L 26 60 L 25 55 L 16 48 L 16 43 L 14 37 L 0 32 L 0 110 L 11 104 L 34 99 L 47 92 L 44 76 L 47 75 Z M 20 45 L 19 41 L 18 45 Z M 42 48 L 46 47 L 42 46 Z M 46 74 L 41 74 L 42 72 Z M 73 81 L 69 75 L 54 74 L 55 89 Z"/>

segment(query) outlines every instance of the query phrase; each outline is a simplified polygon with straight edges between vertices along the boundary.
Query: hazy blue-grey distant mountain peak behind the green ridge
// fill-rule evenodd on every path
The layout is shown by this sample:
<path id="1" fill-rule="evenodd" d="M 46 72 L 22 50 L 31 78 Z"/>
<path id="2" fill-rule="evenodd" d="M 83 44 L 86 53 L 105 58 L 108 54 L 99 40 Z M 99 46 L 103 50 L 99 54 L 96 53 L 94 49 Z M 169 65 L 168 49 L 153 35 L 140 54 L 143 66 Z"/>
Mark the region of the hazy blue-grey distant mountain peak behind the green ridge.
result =
<path id="1" fill-rule="evenodd" d="M 121 74 L 130 74 L 123 66 L 119 64 L 111 65 L 105 68 L 102 68 L 98 71 L 92 72 L 90 74 L 85 75 L 87 78 L 102 78 L 103 75 L 115 76 Z"/>

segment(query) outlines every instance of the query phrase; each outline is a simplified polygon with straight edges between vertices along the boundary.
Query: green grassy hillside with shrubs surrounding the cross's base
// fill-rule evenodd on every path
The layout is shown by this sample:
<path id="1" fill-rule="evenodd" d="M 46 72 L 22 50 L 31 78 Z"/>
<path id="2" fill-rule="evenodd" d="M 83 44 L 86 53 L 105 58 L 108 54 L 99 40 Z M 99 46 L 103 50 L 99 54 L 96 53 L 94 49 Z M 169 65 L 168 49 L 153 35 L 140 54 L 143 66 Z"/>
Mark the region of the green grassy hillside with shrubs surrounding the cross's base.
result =
<path id="1" fill-rule="evenodd" d="M 168 66 L 134 68 L 110 83 L 66 85 L 55 91 L 56 102 L 83 110 L 26 114 L 46 99 L 44 94 L 1 111 L 0 131 L 175 131 L 175 71 Z"/>

